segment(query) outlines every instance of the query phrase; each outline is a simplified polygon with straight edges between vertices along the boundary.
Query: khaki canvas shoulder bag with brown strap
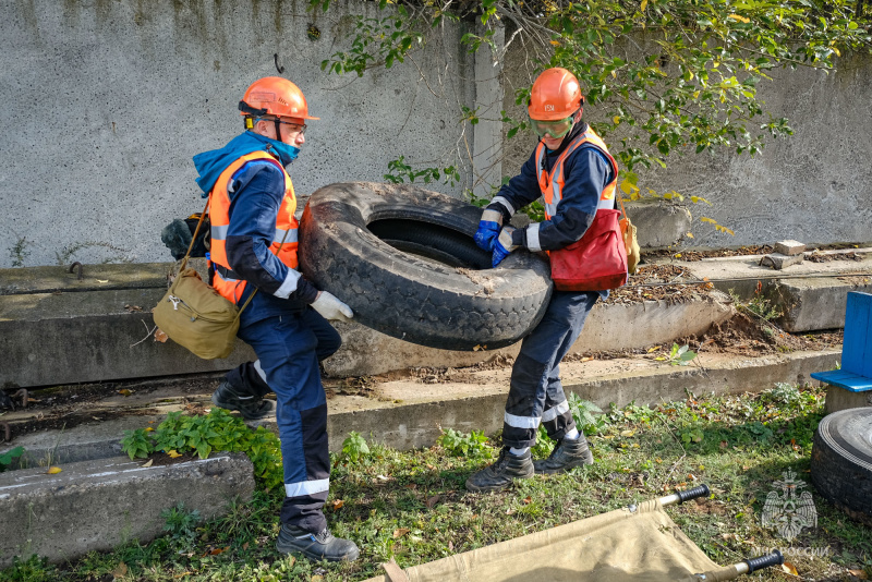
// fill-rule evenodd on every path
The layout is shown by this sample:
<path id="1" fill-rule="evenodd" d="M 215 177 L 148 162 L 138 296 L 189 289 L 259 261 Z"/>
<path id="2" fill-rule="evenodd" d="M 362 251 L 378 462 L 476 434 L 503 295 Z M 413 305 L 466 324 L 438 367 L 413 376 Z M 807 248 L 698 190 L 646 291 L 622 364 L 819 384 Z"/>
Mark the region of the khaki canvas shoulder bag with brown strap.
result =
<path id="1" fill-rule="evenodd" d="M 222 298 L 213 287 L 201 279 L 196 269 L 186 268 L 191 248 L 197 240 L 197 232 L 209 208 L 206 203 L 197 228 L 191 240 L 179 275 L 169 290 L 153 310 L 155 324 L 169 338 L 204 360 L 227 357 L 237 342 L 239 317 L 257 290 L 240 308 Z M 283 241 L 282 241 L 283 242 Z"/>

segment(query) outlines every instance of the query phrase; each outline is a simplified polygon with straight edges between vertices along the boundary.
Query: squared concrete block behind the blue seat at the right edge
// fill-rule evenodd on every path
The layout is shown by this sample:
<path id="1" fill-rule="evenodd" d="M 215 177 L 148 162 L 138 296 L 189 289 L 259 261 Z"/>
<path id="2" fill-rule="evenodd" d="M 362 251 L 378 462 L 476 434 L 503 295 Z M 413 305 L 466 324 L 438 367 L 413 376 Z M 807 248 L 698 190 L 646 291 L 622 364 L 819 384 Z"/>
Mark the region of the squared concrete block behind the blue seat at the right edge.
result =
<path id="1" fill-rule="evenodd" d="M 872 292 L 872 274 L 839 279 L 782 281 L 773 291 L 784 311 L 778 323 L 791 332 L 845 327 L 849 291 Z"/>

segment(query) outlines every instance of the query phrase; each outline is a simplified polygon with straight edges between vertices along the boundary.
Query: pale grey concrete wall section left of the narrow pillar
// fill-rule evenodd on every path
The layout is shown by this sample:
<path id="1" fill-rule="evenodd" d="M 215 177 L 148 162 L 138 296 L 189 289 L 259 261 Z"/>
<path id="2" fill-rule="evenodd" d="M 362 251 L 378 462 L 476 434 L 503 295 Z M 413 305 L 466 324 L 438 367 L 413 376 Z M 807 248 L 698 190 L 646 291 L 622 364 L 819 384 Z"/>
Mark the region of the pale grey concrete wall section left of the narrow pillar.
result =
<path id="1" fill-rule="evenodd" d="M 423 162 L 465 150 L 459 104 L 475 107 L 475 57 L 459 39 L 469 25 L 431 32 L 414 62 L 360 78 L 327 75 L 320 62 L 350 47 L 349 14 L 384 14 L 373 2 L 332 2 L 327 14 L 307 5 L 3 2 L 0 267 L 22 256 L 25 266 L 170 259 L 160 229 L 203 207 L 191 157 L 241 132 L 237 104 L 251 82 L 278 74 L 276 53 L 322 118 L 290 167 L 299 195 L 382 180 L 400 155 Z M 320 31 L 317 39 L 310 26 Z M 426 82 L 419 68 L 432 72 Z M 499 95 L 494 75 L 483 83 L 483 95 Z M 467 124 L 470 144 L 473 130 Z M 459 194 L 473 181 L 469 167 L 461 172 L 457 187 L 434 190 Z"/>

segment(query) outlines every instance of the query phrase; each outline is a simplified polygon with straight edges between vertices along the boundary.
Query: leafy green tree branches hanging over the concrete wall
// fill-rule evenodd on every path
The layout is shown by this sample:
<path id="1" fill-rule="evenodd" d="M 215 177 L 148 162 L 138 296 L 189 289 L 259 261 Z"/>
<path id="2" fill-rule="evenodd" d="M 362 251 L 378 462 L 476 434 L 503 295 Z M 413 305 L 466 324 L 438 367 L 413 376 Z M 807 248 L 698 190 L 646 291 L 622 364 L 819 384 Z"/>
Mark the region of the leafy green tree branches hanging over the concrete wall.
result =
<path id="1" fill-rule="evenodd" d="M 329 10 L 310 0 L 310 10 Z M 758 85 L 776 69 L 831 71 L 843 51 L 870 51 L 865 0 L 397 0 L 378 2 L 378 17 L 359 16 L 351 47 L 322 62 L 328 74 L 358 76 L 373 68 L 410 62 L 439 40 L 448 22 L 469 23 L 461 41 L 470 52 L 486 47 L 502 61 L 510 47 L 524 54 L 526 76 L 564 66 L 579 78 L 592 123 L 618 158 L 621 189 L 630 198 L 679 201 L 639 184 L 640 168 L 663 169 L 674 155 L 732 150 L 755 155 L 765 144 L 792 134 L 758 97 Z M 495 41 L 500 37 L 504 43 Z M 429 82 L 428 86 L 429 86 Z M 514 92 L 526 101 L 530 84 Z M 433 89 L 431 89 L 433 90 Z M 392 181 L 453 181 L 472 163 L 465 129 L 477 110 L 457 100 L 463 131 L 457 147 L 437 160 L 390 162 Z M 491 120 L 493 121 L 493 120 Z M 529 130 L 528 121 L 502 111 L 507 137 Z M 447 157 L 446 157 L 447 156 Z M 481 169 L 473 168 L 473 172 Z M 498 186 L 498 184 L 494 184 Z M 695 198 L 695 197 L 694 197 Z M 685 202 L 707 204 L 704 198 Z M 729 232 L 711 218 L 715 229 Z"/>

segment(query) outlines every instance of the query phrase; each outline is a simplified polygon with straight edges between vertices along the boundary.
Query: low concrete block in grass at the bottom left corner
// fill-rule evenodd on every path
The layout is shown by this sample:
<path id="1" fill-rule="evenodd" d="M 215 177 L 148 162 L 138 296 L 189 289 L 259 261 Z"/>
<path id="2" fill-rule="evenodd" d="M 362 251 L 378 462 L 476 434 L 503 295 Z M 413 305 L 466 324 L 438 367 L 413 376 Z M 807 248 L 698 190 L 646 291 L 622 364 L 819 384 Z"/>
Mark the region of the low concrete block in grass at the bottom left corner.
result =
<path id="1" fill-rule="evenodd" d="M 70 463 L 55 475 L 46 468 L 0 474 L 0 568 L 13 556 L 61 561 L 130 539 L 146 542 L 162 533 L 160 512 L 169 506 L 181 501 L 209 519 L 234 497 L 245 501 L 254 492 L 253 466 L 244 454 L 142 465 L 121 457 Z"/>

